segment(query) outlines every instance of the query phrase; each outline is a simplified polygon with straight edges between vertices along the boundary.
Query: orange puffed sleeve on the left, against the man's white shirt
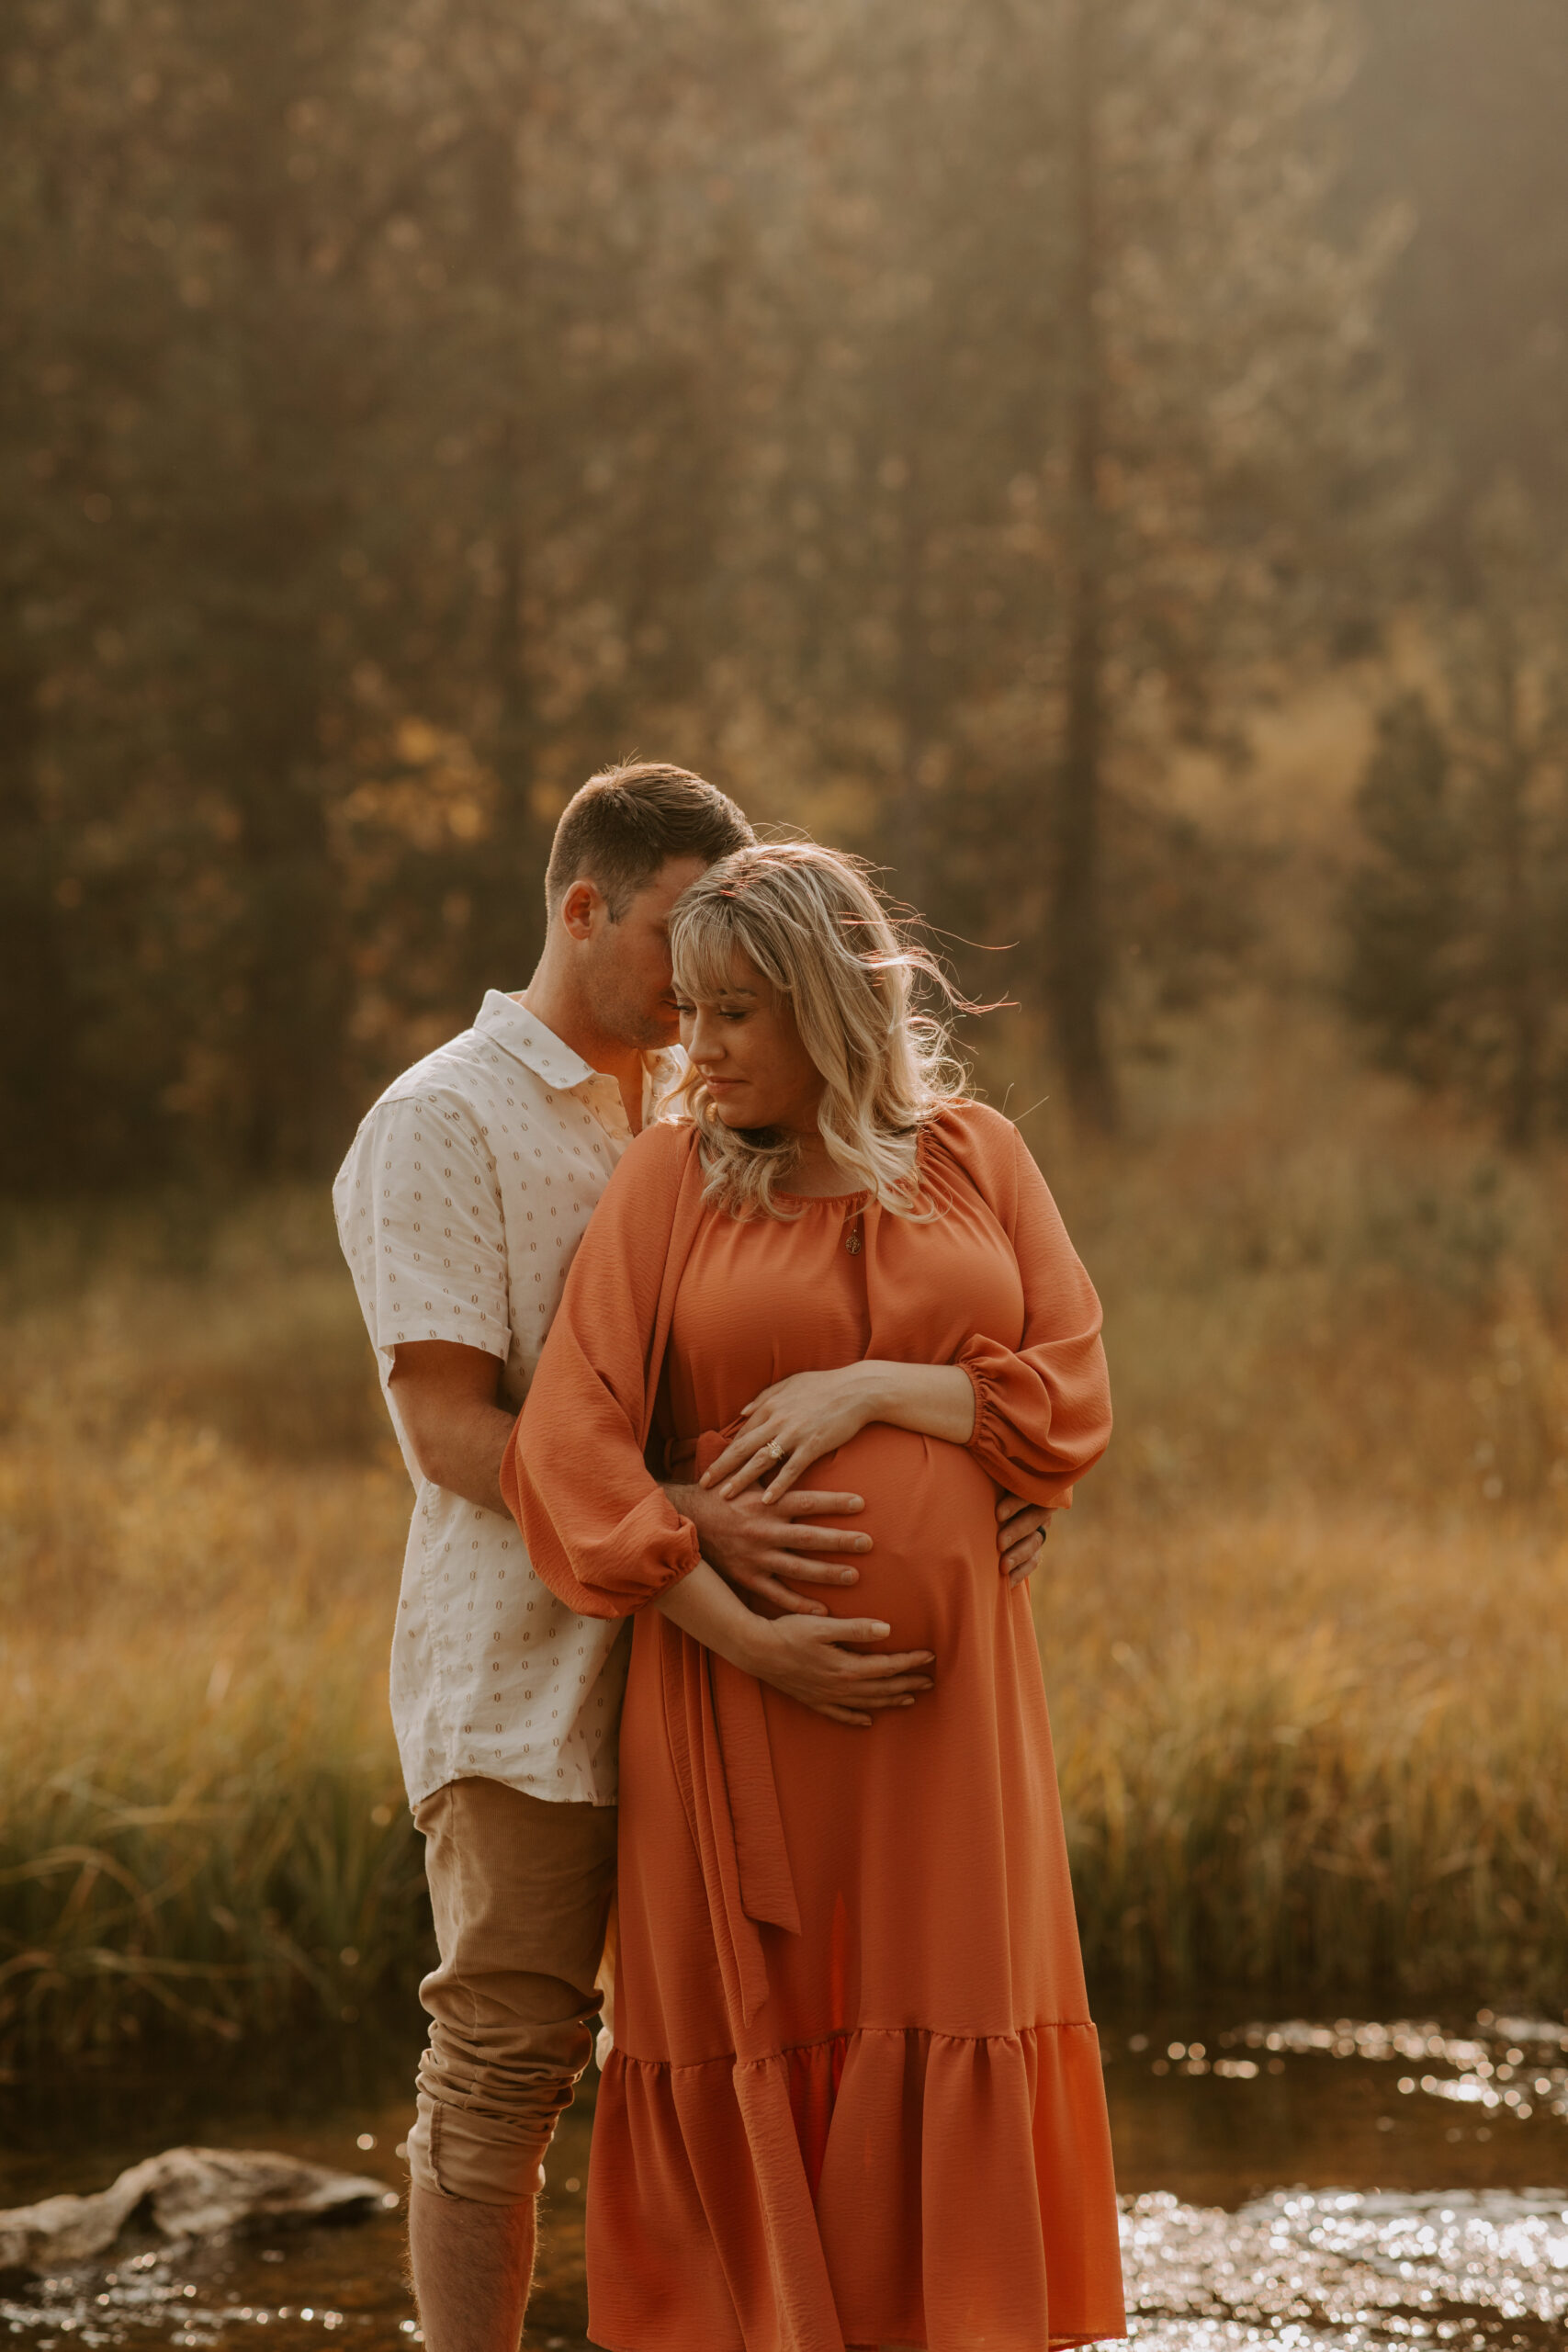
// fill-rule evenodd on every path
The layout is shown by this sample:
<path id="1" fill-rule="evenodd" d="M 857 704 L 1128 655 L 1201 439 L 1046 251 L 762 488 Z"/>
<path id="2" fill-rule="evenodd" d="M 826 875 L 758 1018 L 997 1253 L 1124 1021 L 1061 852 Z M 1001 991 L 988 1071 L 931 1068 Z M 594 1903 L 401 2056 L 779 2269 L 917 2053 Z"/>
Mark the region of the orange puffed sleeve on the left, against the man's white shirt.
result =
<path id="1" fill-rule="evenodd" d="M 670 1136 L 642 1134 L 604 1188 L 501 1463 L 534 1569 L 578 1616 L 632 1616 L 698 1562 L 691 1519 L 644 1463 L 679 1195 Z"/>

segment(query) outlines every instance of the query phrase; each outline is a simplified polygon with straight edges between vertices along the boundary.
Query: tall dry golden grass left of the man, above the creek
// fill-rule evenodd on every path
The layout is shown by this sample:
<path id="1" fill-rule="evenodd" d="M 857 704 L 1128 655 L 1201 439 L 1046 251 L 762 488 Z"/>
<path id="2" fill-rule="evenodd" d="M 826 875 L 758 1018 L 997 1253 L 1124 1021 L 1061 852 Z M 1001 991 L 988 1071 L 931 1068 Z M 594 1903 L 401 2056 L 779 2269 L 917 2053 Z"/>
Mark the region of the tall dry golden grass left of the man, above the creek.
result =
<path id="1" fill-rule="evenodd" d="M 407 1997 L 407 1479 L 320 1200 L 21 1218 L 0 1357 L 0 2051 Z"/>

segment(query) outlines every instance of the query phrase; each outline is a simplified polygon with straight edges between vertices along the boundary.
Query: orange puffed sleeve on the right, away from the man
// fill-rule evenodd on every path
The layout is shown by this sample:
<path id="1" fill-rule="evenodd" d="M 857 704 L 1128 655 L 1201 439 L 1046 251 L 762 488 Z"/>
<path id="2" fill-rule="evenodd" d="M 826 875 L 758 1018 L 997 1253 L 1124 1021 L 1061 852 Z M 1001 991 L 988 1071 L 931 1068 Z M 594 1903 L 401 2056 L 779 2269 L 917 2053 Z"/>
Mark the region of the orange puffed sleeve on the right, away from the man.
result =
<path id="1" fill-rule="evenodd" d="M 992 1136 L 1004 1124 L 987 1117 Z M 976 1390 L 969 1451 L 1009 1494 L 1065 1505 L 1110 1444 L 1100 1301 L 1018 1129 L 985 1150 L 976 1176 L 1013 1244 L 1025 1324 L 1018 1348 L 976 1336 L 959 1350 Z"/>

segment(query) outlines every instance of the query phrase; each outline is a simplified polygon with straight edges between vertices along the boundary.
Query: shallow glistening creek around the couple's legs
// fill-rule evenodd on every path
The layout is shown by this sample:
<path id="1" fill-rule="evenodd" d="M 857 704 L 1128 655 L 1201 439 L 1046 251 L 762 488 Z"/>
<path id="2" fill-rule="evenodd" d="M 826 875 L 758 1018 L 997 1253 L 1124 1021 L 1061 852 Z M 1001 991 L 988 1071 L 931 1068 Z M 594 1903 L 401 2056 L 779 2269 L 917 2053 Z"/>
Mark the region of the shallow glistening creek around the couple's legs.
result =
<path id="1" fill-rule="evenodd" d="M 1547 2347 L 1568 2340 L 1561 2018 L 1103 2016 L 1133 2340 L 1147 2352 Z M 289 2046 L 200 2072 L 12 2086 L 0 2206 L 96 2190 L 179 2140 L 277 2147 L 402 2190 L 411 2046 Z M 590 2077 L 592 2082 L 592 2077 Z M 590 2098 L 548 2166 L 527 2352 L 585 2352 Z M 26 2352 L 75 2345 L 404 2352 L 402 2199 L 230 2244 L 127 2239 L 0 2288 Z"/>

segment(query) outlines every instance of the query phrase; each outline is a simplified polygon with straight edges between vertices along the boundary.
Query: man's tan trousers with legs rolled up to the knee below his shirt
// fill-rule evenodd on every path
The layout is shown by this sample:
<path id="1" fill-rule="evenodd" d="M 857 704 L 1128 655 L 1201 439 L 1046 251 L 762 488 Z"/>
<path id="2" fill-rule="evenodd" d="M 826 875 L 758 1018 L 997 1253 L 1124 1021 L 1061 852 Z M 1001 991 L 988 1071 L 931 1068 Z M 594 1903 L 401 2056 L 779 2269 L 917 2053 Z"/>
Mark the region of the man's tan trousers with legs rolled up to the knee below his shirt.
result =
<path id="1" fill-rule="evenodd" d="M 418 1987 L 430 2039 L 409 2171 L 444 2197 L 520 2204 L 592 2053 L 616 1809 L 449 1780 L 414 1825 L 440 1969 Z"/>

